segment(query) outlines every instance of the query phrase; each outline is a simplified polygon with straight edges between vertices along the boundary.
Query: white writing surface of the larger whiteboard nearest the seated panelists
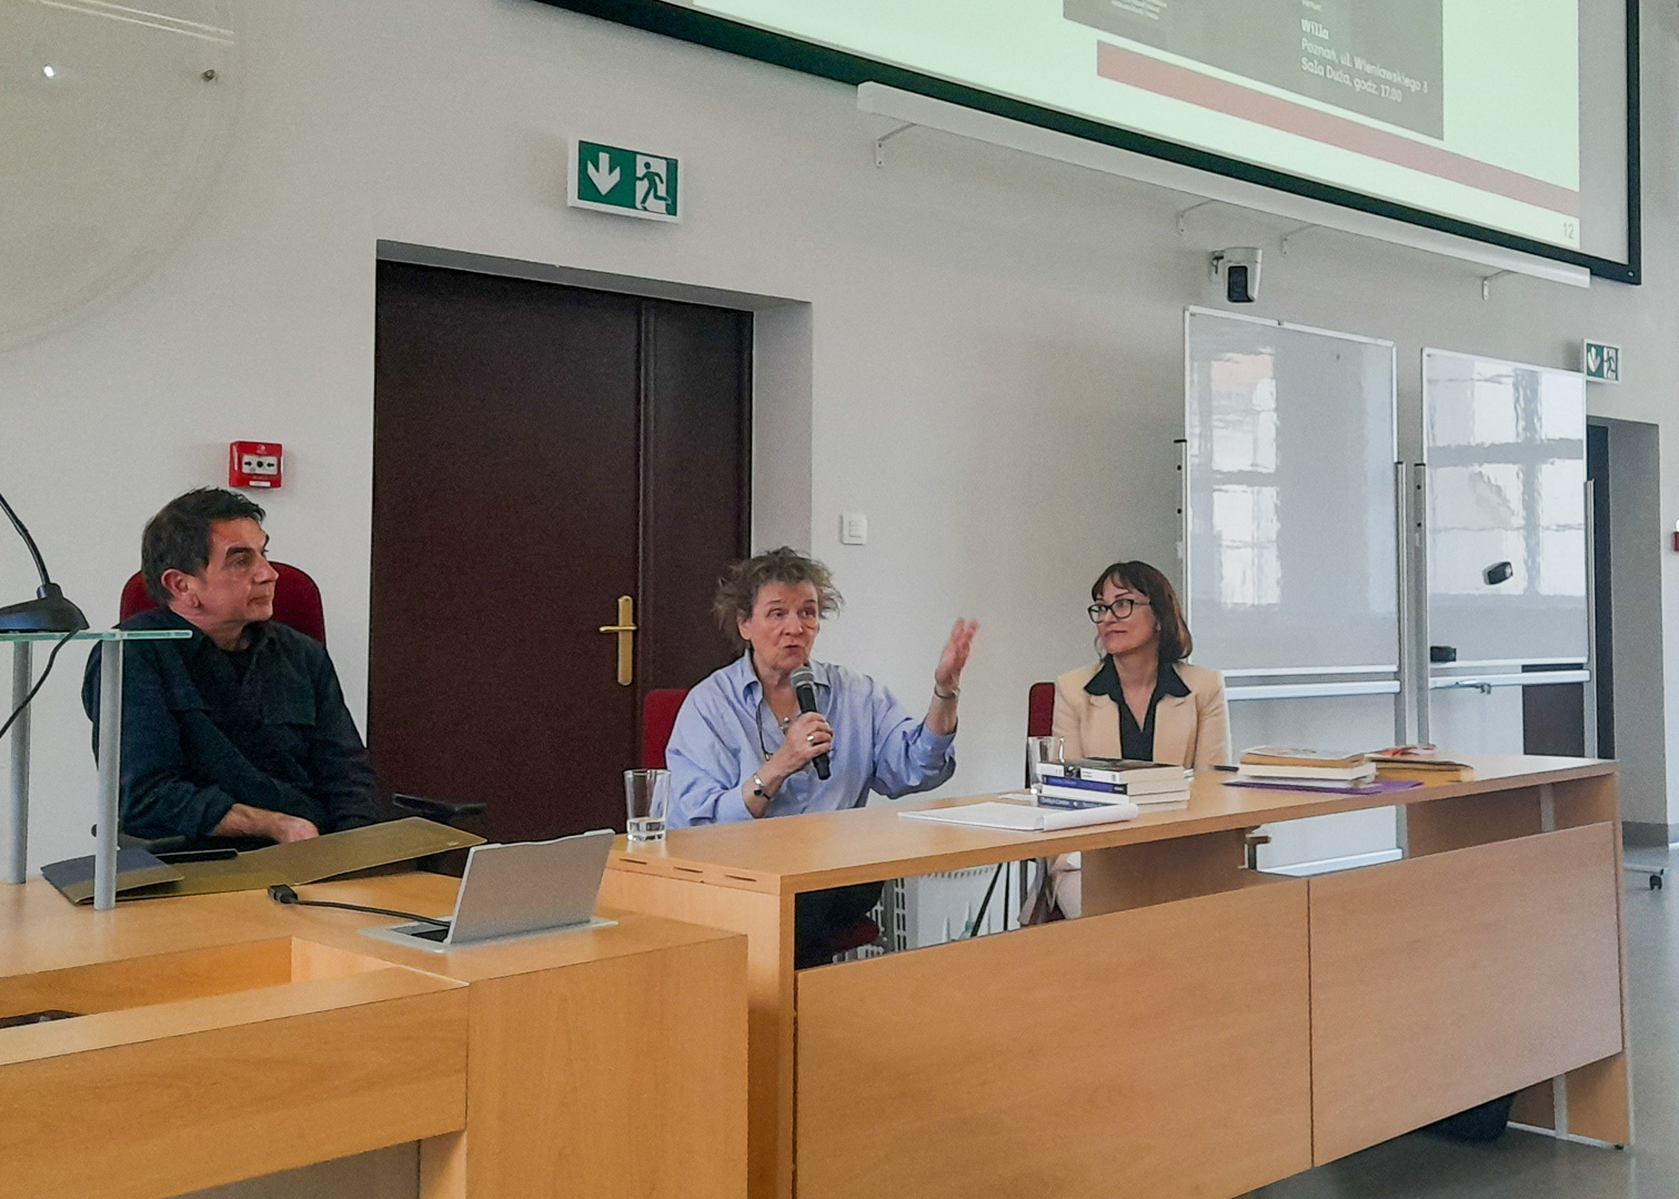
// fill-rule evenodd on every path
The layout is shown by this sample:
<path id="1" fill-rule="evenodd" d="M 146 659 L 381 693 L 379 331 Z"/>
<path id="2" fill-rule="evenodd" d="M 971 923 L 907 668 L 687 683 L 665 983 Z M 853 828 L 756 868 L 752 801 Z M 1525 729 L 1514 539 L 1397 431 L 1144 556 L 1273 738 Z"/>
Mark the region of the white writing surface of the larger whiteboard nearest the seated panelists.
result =
<path id="1" fill-rule="evenodd" d="M 1394 343 L 1192 307 L 1184 356 L 1195 662 L 1392 677 Z"/>

